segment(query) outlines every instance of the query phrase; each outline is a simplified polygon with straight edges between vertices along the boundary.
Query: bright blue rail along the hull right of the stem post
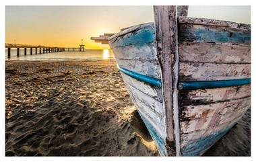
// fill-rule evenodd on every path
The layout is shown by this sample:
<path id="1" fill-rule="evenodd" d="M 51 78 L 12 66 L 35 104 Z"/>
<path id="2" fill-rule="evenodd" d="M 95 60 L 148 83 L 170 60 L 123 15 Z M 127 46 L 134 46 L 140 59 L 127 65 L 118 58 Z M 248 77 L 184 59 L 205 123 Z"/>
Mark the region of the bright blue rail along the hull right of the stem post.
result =
<path id="1" fill-rule="evenodd" d="M 222 81 L 183 81 L 179 83 L 179 89 L 205 89 L 217 87 L 231 87 L 238 85 L 251 84 L 251 78 L 248 79 L 232 79 Z"/>

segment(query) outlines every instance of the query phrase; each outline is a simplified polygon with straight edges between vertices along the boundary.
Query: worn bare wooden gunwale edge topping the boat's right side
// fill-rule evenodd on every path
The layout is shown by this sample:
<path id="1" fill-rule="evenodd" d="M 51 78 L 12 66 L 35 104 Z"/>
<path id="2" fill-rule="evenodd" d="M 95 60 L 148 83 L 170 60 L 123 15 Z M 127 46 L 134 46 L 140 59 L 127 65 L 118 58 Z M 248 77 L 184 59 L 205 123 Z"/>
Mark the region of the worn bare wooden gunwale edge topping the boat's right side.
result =
<path id="1" fill-rule="evenodd" d="M 222 21 L 217 19 L 205 19 L 197 17 L 179 17 L 180 24 L 197 24 L 203 26 L 222 26 L 232 28 L 236 31 L 251 32 L 251 25 L 235 22 Z"/>

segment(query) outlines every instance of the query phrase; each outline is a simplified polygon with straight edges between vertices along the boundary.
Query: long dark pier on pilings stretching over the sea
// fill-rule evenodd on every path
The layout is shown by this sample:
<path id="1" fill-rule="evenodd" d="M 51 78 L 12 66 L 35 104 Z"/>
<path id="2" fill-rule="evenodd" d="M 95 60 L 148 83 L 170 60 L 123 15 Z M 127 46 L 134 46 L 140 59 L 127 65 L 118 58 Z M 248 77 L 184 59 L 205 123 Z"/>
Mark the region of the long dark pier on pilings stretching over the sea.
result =
<path id="1" fill-rule="evenodd" d="M 32 54 L 44 54 L 44 53 L 54 53 L 54 52 L 69 52 L 69 51 L 83 51 L 84 52 L 84 44 L 79 44 L 79 47 L 57 47 L 57 46 L 36 46 L 29 44 L 10 44 L 6 43 L 5 48 L 7 48 L 8 58 L 11 58 L 11 48 L 17 49 L 17 56 L 20 56 L 20 48 L 24 48 L 24 55 L 27 55 L 27 50 L 30 49 L 30 55 Z M 33 53 L 33 49 L 35 52 Z"/>

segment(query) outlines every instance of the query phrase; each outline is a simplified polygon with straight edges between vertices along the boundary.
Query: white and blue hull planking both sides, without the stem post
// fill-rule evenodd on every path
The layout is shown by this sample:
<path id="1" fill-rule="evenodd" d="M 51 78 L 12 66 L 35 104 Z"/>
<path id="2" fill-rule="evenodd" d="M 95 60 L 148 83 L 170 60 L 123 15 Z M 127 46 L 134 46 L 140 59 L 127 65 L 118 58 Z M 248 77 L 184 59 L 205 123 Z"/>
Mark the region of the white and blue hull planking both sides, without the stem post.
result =
<path id="1" fill-rule="evenodd" d="M 251 40 L 247 38 L 251 30 L 193 24 L 184 17 L 180 26 L 179 132 L 175 132 L 179 145 L 166 140 L 168 122 L 154 23 L 127 28 L 109 39 L 129 94 L 162 156 L 176 155 L 177 146 L 180 155 L 202 155 L 251 106 Z M 224 29 L 239 34 L 226 38 Z M 197 30 L 206 33 L 197 36 Z"/>

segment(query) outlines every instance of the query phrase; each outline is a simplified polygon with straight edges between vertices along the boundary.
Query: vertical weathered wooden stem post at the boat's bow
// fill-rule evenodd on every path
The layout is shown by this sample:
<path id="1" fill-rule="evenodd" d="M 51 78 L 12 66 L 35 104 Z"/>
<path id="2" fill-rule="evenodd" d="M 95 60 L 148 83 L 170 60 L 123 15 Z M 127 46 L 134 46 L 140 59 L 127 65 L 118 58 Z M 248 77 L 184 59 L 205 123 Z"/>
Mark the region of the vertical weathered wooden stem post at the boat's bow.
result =
<path id="1" fill-rule="evenodd" d="M 177 71 L 179 73 L 179 69 L 177 69 L 179 68 L 179 54 L 176 6 L 154 6 L 154 19 L 156 22 L 157 56 L 162 72 L 167 153 L 175 155 L 174 152 L 176 152 L 176 155 L 179 156 L 179 112 L 177 112 L 179 108 L 177 105 L 174 106 L 177 104 L 177 101 L 174 103 L 174 93 L 177 93 Z M 176 151 L 173 146 L 176 147 Z"/>

